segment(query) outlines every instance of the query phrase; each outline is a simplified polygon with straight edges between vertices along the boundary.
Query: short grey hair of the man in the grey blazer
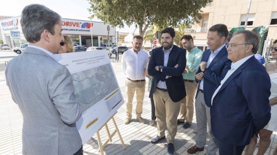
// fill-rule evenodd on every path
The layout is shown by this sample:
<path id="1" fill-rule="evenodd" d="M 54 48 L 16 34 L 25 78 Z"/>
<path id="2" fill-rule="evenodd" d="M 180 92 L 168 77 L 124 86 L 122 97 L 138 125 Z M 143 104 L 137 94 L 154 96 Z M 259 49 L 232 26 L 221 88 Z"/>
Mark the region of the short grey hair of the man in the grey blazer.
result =
<path id="1" fill-rule="evenodd" d="M 61 23 L 61 16 L 40 4 L 25 6 L 21 13 L 20 24 L 25 39 L 30 43 L 40 41 L 44 30 L 55 34 L 55 25 Z"/>

